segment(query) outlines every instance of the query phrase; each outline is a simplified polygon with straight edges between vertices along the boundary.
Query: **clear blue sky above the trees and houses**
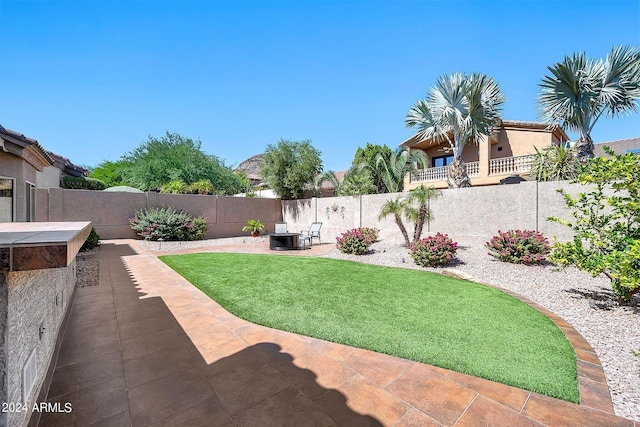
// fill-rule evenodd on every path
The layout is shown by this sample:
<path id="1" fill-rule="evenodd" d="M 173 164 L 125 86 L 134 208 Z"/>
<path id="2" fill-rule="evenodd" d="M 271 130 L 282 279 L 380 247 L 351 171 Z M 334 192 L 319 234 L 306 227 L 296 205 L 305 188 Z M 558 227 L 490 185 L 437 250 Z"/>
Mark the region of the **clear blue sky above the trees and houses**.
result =
<path id="1" fill-rule="evenodd" d="M 638 0 L 2 0 L 0 124 L 85 165 L 168 130 L 231 166 L 310 139 L 342 170 L 408 138 L 441 74 L 485 73 L 503 118 L 536 120 L 547 66 L 620 44 L 640 45 Z M 639 114 L 592 134 L 636 136 Z"/>

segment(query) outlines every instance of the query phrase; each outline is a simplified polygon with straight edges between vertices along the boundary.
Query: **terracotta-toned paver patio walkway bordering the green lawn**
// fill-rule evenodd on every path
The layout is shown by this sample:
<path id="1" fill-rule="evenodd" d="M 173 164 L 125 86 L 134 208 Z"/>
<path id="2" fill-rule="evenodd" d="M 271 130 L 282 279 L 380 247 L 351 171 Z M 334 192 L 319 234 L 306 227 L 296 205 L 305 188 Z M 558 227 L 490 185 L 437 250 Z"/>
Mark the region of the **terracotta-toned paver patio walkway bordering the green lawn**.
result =
<path id="1" fill-rule="evenodd" d="M 48 393 L 73 411 L 41 426 L 634 426 L 612 415 L 593 349 L 561 319 L 582 405 L 251 324 L 134 241 L 96 257 L 100 284 L 76 292 Z"/>

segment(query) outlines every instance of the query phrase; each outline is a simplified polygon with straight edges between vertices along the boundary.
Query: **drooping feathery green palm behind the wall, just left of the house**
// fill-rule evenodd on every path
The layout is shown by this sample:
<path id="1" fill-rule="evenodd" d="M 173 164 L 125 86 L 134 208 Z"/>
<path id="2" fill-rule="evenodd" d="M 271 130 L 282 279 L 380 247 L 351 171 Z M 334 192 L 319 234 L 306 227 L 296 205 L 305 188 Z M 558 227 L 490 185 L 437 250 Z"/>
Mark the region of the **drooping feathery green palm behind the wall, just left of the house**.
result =
<path id="1" fill-rule="evenodd" d="M 398 193 L 404 189 L 404 177 L 427 166 L 427 155 L 422 150 L 396 150 L 386 159 L 382 154 L 376 156 L 376 167 L 387 193 Z"/>

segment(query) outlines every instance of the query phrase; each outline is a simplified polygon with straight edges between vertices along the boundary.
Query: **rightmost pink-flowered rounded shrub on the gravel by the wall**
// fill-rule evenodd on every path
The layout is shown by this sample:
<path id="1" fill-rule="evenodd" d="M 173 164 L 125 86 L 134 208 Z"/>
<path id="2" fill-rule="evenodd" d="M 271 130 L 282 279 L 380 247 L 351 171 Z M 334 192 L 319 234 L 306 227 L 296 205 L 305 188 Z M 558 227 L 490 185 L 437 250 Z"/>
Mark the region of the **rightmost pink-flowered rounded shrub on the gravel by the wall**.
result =
<path id="1" fill-rule="evenodd" d="M 485 247 L 492 257 L 514 264 L 541 263 L 551 251 L 549 240 L 542 233 L 527 230 L 498 230 L 498 234 L 485 243 Z"/>

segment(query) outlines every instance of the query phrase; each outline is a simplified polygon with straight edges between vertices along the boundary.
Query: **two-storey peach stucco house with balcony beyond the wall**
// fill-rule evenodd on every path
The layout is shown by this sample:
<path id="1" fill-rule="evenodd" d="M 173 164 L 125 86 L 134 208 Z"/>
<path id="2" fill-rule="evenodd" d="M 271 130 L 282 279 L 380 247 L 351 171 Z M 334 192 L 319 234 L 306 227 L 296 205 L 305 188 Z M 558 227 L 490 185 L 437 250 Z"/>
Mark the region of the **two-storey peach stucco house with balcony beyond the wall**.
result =
<path id="1" fill-rule="evenodd" d="M 466 145 L 462 160 L 473 186 L 495 185 L 511 175 L 526 176 L 535 155 L 535 147 L 540 150 L 551 144 L 568 141 L 569 137 L 559 126 L 502 120 L 490 138 L 483 138 L 478 145 Z M 422 150 L 429 157 L 428 168 L 405 177 L 405 191 L 420 184 L 447 188 L 447 168 L 453 160 L 453 154 L 446 141 L 421 141 L 414 135 L 403 141 L 400 147 Z"/>

